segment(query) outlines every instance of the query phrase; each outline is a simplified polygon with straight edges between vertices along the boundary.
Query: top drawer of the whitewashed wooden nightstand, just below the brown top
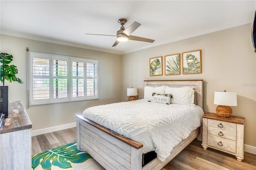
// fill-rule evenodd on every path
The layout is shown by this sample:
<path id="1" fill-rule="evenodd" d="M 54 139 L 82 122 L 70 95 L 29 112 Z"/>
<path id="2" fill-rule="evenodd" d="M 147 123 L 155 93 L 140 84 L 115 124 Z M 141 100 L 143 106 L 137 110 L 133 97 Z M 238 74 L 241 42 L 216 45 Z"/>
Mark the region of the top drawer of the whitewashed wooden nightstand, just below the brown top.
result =
<path id="1" fill-rule="evenodd" d="M 228 122 L 208 119 L 208 128 L 209 127 L 213 127 L 221 130 L 229 130 L 236 133 L 236 123 L 228 123 Z"/>

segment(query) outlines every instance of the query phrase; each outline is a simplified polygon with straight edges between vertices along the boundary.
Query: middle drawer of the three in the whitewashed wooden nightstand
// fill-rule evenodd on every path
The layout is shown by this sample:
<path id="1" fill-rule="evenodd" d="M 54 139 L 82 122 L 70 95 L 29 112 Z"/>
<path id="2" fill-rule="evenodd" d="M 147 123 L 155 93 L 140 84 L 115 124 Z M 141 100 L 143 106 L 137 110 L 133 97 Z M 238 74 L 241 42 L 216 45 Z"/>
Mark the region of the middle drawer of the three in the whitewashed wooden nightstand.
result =
<path id="1" fill-rule="evenodd" d="M 208 134 L 212 134 L 214 136 L 230 139 L 230 140 L 236 140 L 236 131 L 230 131 L 230 130 L 224 130 L 221 128 L 213 128 L 208 127 Z"/>

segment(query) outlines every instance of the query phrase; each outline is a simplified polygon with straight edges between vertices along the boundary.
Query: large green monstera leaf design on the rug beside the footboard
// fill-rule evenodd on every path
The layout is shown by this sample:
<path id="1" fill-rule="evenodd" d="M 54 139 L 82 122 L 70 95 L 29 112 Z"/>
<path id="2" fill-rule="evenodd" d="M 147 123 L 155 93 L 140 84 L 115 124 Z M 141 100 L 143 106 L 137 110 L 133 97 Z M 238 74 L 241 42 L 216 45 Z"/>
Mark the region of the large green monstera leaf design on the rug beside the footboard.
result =
<path id="1" fill-rule="evenodd" d="M 76 149 L 74 142 L 32 156 L 32 168 L 35 169 L 39 164 L 44 170 L 50 170 L 52 165 L 65 169 L 72 168 L 70 162 L 82 163 L 89 158 L 92 157 L 88 153 Z"/>

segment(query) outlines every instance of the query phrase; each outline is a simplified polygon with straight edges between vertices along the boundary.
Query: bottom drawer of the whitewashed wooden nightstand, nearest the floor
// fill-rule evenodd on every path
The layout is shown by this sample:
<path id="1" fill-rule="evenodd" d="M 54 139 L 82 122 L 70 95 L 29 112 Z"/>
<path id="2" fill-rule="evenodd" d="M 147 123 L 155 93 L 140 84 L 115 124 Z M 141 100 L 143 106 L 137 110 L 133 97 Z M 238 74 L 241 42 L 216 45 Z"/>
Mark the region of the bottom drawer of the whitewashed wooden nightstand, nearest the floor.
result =
<path id="1" fill-rule="evenodd" d="M 226 150 L 228 152 L 236 153 L 236 141 L 234 140 L 229 140 L 208 134 L 207 145 L 219 148 L 220 150 Z"/>

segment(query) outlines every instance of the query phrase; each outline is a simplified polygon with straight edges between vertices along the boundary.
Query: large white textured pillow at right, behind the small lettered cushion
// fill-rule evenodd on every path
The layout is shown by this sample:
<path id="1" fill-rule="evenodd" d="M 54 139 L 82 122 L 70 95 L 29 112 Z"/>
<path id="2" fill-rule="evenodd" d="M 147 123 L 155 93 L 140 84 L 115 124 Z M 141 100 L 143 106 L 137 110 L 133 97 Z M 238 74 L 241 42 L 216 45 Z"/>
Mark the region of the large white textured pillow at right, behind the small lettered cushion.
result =
<path id="1" fill-rule="evenodd" d="M 195 90 L 191 87 L 165 87 L 166 94 L 172 94 L 171 104 L 189 105 L 194 104 Z"/>

